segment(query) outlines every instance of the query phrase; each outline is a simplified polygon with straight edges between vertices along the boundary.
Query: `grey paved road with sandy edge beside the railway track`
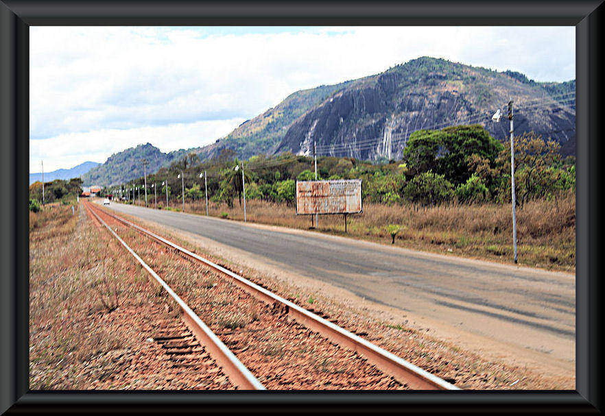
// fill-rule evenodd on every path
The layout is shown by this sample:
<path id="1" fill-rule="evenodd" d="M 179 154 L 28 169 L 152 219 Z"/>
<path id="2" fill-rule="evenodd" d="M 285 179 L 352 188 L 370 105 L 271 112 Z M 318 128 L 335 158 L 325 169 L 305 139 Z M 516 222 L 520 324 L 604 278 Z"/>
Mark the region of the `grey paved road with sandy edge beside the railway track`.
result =
<path id="1" fill-rule="evenodd" d="M 198 234 L 308 278 L 497 342 L 574 363 L 576 278 L 315 232 L 122 204 L 112 209 Z"/>

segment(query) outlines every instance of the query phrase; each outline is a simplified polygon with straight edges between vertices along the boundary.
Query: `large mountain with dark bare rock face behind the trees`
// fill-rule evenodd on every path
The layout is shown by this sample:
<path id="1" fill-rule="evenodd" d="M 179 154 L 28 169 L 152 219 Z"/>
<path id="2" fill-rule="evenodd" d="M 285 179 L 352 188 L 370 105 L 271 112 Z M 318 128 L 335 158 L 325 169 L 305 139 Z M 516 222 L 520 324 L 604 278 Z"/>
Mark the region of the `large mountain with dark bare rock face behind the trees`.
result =
<path id="1" fill-rule="evenodd" d="M 396 159 L 412 132 L 458 123 L 484 125 L 495 138 L 506 141 L 506 106 L 513 99 L 517 134 L 533 130 L 558 140 L 563 154 L 575 154 L 575 100 L 569 105 L 575 84 L 539 83 L 512 71 L 418 58 L 340 84 L 283 128 L 283 138 L 272 153 L 312 154 L 316 142 L 318 154 Z M 505 117 L 494 123 L 491 116 L 499 108 Z"/>

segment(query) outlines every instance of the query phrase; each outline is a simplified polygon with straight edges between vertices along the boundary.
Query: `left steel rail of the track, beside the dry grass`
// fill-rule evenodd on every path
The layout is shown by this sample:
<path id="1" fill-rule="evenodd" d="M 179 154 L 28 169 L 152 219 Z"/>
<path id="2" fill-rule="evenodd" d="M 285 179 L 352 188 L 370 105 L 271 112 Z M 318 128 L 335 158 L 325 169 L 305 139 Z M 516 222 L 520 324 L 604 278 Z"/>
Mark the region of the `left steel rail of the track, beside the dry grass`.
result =
<path id="1" fill-rule="evenodd" d="M 88 202 L 86 203 L 86 206 L 88 209 L 91 208 L 91 204 Z M 228 347 L 214 334 L 214 332 L 212 332 L 212 330 L 206 326 L 204 321 L 202 321 L 202 319 L 200 319 L 200 317 L 198 317 L 198 315 L 196 315 L 195 312 L 193 312 L 193 310 L 191 310 L 191 308 L 189 308 L 189 306 L 183 302 L 183 300 L 176 293 L 174 293 L 171 287 L 168 286 L 168 284 L 160 276 L 158 276 L 158 274 L 153 271 L 153 269 L 149 267 L 137 253 L 128 247 L 128 244 L 126 244 L 126 242 L 123 241 L 120 236 L 117 235 L 116 232 L 112 230 L 111 227 L 107 225 L 105 221 L 103 221 L 103 219 L 101 219 L 101 217 L 99 217 L 99 215 L 97 215 L 95 210 L 90 210 L 90 212 L 100 223 L 105 225 L 111 234 L 113 234 L 113 236 L 115 236 L 115 238 L 117 238 L 117 240 L 124 247 L 126 247 L 128 252 L 130 252 L 130 254 L 132 254 L 132 256 L 134 256 L 139 263 L 141 263 L 141 266 L 143 266 L 143 268 L 150 273 L 150 275 L 155 279 L 155 282 L 151 280 L 151 278 L 150 280 L 155 284 L 160 284 L 172 297 L 172 299 L 174 299 L 182 312 L 182 320 L 185 321 L 200 344 L 204 345 L 208 349 L 209 354 L 211 354 L 217 364 L 222 367 L 228 378 L 234 384 L 244 390 L 266 390 L 263 384 L 261 384 L 261 382 L 254 377 L 250 370 L 247 369 L 243 363 L 241 363 L 239 358 L 237 358 L 235 354 L 233 354 L 233 352 L 231 352 L 231 350 L 229 350 Z"/>

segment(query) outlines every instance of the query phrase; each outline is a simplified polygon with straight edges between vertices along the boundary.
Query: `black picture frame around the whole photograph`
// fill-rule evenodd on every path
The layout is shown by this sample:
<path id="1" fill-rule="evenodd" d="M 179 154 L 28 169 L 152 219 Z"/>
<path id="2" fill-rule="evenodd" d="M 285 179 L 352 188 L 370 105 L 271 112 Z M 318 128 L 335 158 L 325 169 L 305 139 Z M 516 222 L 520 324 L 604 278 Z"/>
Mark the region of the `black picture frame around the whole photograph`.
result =
<path id="1" fill-rule="evenodd" d="M 602 410 L 601 1 L 0 0 L 0 411 L 576 413 Z M 576 391 L 38 392 L 28 389 L 30 25 L 573 25 L 576 27 Z"/>

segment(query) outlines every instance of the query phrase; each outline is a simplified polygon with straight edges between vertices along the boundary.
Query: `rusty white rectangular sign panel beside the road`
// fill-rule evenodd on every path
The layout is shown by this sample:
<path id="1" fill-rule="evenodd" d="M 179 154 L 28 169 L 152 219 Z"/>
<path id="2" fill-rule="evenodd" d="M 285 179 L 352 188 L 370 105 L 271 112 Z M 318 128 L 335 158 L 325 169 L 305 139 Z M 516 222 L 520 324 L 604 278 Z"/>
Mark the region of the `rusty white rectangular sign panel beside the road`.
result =
<path id="1" fill-rule="evenodd" d="M 296 215 L 361 212 L 361 180 L 296 182 Z"/>

